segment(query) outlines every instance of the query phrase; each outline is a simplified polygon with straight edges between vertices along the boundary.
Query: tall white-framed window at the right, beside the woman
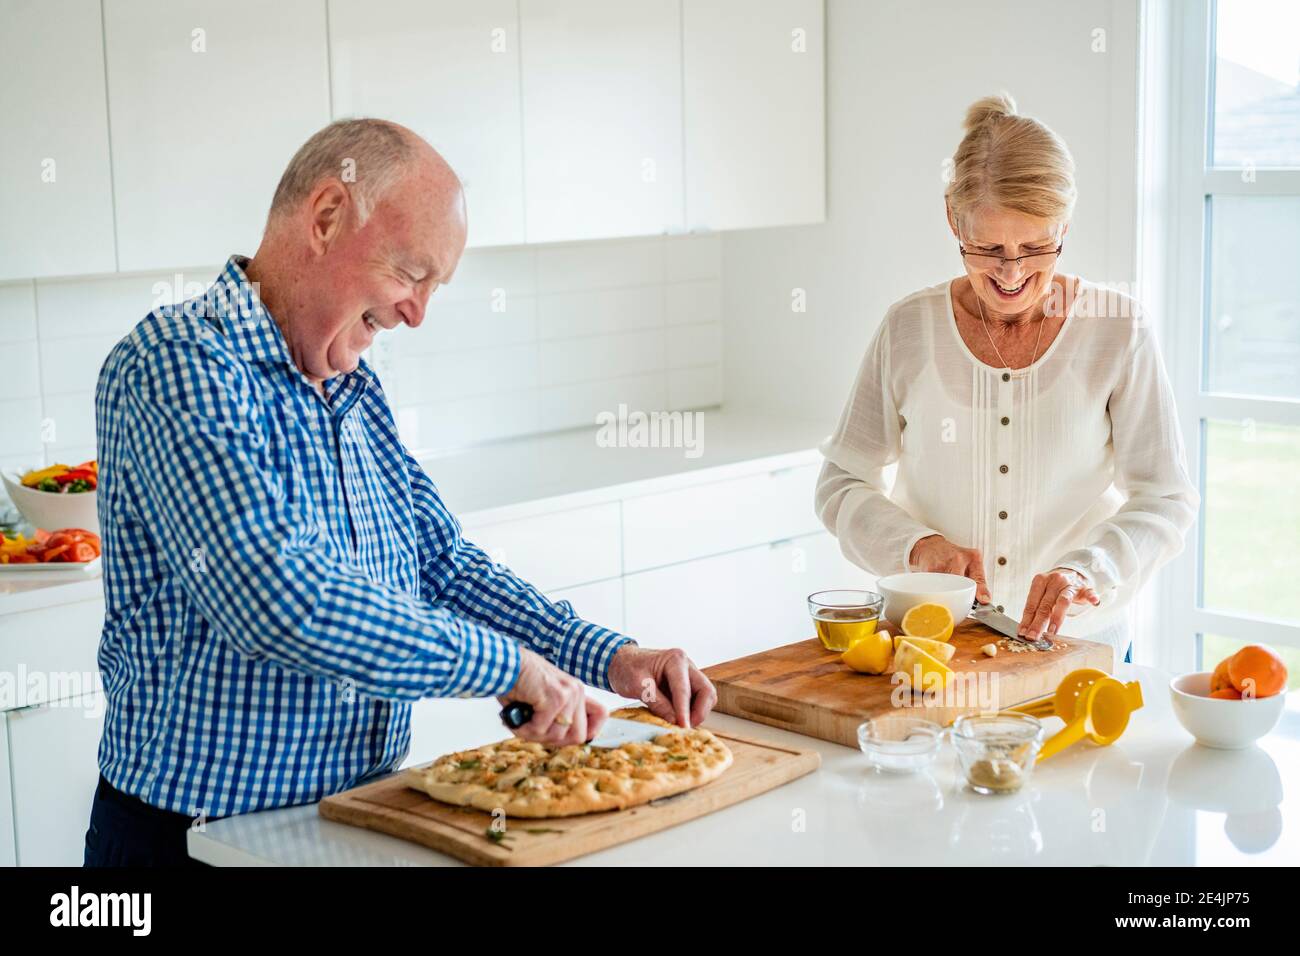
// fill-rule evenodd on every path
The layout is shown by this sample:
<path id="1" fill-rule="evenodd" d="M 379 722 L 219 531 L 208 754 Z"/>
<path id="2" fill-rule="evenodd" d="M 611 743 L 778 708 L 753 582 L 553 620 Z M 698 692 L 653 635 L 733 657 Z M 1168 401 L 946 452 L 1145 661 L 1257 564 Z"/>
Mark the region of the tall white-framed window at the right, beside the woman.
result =
<path id="1" fill-rule="evenodd" d="M 1271 644 L 1300 687 L 1300 3 L 1188 0 L 1157 21 L 1176 117 L 1162 332 L 1202 498 L 1158 662 Z"/>

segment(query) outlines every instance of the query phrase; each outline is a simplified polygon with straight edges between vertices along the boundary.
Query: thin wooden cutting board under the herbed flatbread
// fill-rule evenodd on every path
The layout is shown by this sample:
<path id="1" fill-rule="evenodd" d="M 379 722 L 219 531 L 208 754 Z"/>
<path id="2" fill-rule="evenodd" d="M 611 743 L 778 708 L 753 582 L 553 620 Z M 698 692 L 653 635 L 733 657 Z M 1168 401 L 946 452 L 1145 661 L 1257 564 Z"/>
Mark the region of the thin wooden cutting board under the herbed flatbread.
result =
<path id="1" fill-rule="evenodd" d="M 797 750 L 716 730 L 714 734 L 725 741 L 733 757 L 727 773 L 716 780 L 628 810 L 558 819 L 511 818 L 506 821 L 500 840 L 488 836 L 491 814 L 438 803 L 403 784 L 400 771 L 325 797 L 320 814 L 325 819 L 424 844 L 467 864 L 546 866 L 738 804 L 810 774 L 822 763 L 815 750 Z"/>

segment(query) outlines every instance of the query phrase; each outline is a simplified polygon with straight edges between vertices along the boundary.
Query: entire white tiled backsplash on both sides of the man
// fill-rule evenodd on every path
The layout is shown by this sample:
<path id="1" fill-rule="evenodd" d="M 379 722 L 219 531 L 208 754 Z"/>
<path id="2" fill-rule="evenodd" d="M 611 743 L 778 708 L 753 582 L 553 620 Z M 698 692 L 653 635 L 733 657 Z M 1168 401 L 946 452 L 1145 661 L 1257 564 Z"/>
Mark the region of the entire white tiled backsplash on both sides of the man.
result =
<path id="1" fill-rule="evenodd" d="M 95 455 L 95 378 L 160 298 L 217 269 L 0 285 L 0 468 Z M 186 285 L 190 285 L 186 289 Z M 722 239 L 471 250 L 370 362 L 417 454 L 722 403 Z"/>

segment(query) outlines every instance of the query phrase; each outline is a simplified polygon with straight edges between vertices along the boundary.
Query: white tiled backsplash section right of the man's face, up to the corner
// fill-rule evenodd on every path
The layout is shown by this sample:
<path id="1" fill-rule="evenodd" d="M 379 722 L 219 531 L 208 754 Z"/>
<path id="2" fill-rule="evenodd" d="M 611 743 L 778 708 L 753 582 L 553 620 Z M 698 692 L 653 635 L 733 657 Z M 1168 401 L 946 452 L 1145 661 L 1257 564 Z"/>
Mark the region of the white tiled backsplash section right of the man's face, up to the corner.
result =
<path id="1" fill-rule="evenodd" d="M 442 450 L 723 401 L 722 239 L 471 250 L 373 360 L 403 440 Z"/>

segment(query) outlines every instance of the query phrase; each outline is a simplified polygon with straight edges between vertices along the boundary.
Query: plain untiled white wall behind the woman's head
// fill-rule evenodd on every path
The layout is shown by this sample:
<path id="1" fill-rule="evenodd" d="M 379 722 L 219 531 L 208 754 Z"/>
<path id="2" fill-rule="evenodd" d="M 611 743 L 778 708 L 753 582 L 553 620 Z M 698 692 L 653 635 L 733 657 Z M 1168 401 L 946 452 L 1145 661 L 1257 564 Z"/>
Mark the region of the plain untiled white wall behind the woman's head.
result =
<path id="1" fill-rule="evenodd" d="M 827 222 L 724 237 L 728 406 L 833 425 L 889 304 L 962 271 L 941 166 L 966 107 L 1000 88 L 1074 153 L 1061 268 L 1131 282 L 1138 13 L 1136 0 L 828 0 Z"/>

